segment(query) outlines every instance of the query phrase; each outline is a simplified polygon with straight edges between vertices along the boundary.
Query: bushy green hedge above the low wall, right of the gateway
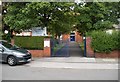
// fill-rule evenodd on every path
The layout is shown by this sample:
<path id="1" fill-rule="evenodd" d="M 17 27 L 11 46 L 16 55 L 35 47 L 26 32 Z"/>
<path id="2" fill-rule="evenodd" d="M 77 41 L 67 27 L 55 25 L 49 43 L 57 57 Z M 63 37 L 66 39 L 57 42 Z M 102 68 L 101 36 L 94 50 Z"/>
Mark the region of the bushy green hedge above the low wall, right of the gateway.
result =
<path id="1" fill-rule="evenodd" d="M 112 34 L 104 31 L 95 31 L 92 33 L 91 46 L 95 52 L 109 53 L 113 50 L 120 49 L 120 31 L 114 31 Z"/>

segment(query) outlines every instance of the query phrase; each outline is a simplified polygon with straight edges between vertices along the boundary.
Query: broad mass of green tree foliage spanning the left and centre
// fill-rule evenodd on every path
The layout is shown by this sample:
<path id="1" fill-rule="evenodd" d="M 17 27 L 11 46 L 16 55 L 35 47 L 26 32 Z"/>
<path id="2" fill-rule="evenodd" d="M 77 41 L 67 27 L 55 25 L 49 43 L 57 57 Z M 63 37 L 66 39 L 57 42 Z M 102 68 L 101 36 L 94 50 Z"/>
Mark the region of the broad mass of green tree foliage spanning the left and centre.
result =
<path id="1" fill-rule="evenodd" d="M 4 23 L 15 32 L 33 27 L 47 27 L 60 37 L 70 32 L 74 24 L 74 3 L 31 2 L 9 3 Z"/>

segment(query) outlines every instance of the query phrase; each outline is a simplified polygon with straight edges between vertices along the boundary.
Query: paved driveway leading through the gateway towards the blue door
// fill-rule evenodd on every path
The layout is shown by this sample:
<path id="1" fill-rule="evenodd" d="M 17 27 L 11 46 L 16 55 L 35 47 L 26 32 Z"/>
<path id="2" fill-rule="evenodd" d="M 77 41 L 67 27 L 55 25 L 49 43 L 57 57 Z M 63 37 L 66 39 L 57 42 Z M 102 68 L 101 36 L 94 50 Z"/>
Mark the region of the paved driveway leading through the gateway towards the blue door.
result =
<path id="1" fill-rule="evenodd" d="M 76 42 L 67 43 L 62 49 L 58 50 L 55 57 L 82 57 L 82 51 Z"/>

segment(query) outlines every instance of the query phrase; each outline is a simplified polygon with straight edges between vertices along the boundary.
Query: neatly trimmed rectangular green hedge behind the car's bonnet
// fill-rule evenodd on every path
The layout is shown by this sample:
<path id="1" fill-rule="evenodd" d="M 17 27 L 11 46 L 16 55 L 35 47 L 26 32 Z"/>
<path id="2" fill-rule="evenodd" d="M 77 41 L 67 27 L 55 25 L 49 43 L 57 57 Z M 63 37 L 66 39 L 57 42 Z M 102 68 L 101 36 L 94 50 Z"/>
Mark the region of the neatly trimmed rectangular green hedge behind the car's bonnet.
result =
<path id="1" fill-rule="evenodd" d="M 44 37 L 43 36 L 15 36 L 15 44 L 25 49 L 43 50 Z"/>

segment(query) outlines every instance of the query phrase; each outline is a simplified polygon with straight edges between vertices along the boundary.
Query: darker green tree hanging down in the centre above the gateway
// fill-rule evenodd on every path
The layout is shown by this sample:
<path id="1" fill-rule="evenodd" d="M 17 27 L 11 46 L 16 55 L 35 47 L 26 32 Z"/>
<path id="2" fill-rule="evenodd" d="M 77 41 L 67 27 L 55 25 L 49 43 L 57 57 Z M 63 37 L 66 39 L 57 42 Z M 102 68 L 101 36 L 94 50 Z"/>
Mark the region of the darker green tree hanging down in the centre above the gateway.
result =
<path id="1" fill-rule="evenodd" d="M 60 38 L 61 34 L 66 34 L 71 31 L 75 23 L 73 10 L 71 7 L 74 3 L 52 3 L 55 7 L 50 21 L 50 32 Z"/>

